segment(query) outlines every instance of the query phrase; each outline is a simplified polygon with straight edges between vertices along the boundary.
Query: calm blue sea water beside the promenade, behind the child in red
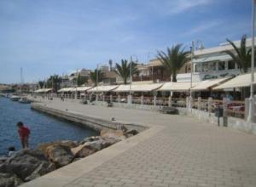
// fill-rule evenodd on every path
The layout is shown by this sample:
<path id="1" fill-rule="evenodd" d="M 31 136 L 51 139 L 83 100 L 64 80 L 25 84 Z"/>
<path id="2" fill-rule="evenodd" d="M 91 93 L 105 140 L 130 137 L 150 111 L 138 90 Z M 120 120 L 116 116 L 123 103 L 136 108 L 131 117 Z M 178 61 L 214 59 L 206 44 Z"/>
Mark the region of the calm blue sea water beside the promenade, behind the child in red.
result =
<path id="1" fill-rule="evenodd" d="M 97 133 L 89 128 L 79 127 L 71 122 L 32 111 L 30 105 L 20 104 L 0 97 L 0 156 L 6 155 L 9 146 L 20 149 L 17 122 L 23 122 L 31 129 L 30 147 L 58 139 L 81 140 Z"/>

